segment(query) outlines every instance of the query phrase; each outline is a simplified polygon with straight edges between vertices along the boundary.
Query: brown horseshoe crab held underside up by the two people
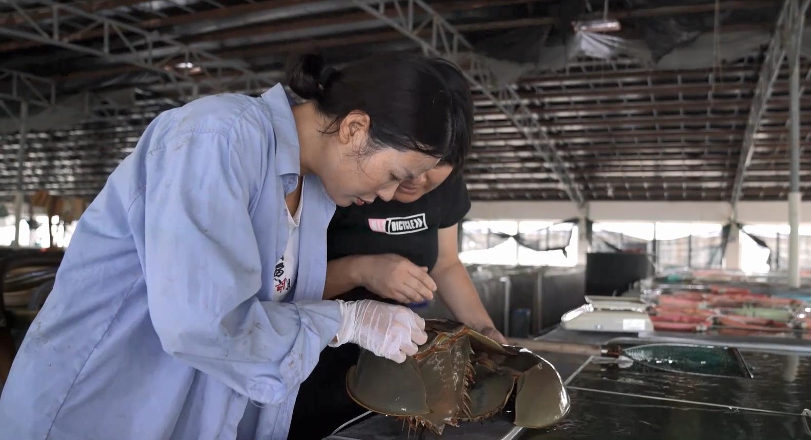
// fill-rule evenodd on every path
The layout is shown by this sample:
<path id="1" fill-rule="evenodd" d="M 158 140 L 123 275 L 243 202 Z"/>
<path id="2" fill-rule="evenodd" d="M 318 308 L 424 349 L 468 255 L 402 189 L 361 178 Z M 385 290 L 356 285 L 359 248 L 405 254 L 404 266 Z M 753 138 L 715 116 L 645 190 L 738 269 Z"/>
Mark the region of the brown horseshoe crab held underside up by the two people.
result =
<path id="1" fill-rule="evenodd" d="M 543 428 L 569 412 L 560 375 L 542 357 L 455 321 L 426 320 L 425 331 L 427 342 L 402 364 L 362 351 L 346 375 L 350 397 L 436 434 L 495 416 L 513 397 L 513 423 L 521 427 Z"/>

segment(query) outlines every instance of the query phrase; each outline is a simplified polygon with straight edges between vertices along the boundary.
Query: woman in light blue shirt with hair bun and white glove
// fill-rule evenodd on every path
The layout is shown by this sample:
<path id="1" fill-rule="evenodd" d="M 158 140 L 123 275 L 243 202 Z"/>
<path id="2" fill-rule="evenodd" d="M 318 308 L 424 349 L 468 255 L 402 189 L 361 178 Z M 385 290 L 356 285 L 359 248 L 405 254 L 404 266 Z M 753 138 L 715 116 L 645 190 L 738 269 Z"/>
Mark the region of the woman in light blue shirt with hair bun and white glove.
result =
<path id="1" fill-rule="evenodd" d="M 79 220 L 0 437 L 286 438 L 328 344 L 413 354 L 407 308 L 321 300 L 326 230 L 336 204 L 388 201 L 469 145 L 460 82 L 439 59 L 307 55 L 289 72 L 300 106 L 277 85 L 158 116 Z"/>

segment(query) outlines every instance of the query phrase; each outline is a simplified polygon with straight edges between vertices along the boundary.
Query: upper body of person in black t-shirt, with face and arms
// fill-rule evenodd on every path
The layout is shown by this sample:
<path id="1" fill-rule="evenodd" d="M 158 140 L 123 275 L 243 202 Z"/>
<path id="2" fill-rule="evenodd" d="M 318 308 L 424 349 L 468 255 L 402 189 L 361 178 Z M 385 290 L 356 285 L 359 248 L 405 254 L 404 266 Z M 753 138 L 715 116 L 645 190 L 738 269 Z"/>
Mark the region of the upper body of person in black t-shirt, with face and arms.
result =
<path id="1" fill-rule="evenodd" d="M 441 163 L 401 183 L 392 201 L 337 209 L 327 233 L 324 300 L 371 298 L 401 304 L 438 291 L 458 321 L 506 343 L 493 326 L 457 251 L 470 209 L 461 174 Z"/>

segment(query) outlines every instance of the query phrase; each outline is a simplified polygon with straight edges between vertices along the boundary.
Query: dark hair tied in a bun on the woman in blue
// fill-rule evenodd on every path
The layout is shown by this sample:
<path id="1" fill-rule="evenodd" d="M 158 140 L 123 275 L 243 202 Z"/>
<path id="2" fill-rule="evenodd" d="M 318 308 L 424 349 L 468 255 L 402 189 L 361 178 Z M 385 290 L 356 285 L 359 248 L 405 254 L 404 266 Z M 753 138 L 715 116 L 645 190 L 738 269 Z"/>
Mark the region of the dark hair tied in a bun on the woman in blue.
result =
<path id="1" fill-rule="evenodd" d="M 370 145 L 414 150 L 461 170 L 473 137 L 473 101 L 459 68 L 443 58 L 414 54 L 375 55 L 340 71 L 318 54 L 293 58 L 287 84 L 332 117 L 336 132 L 353 110 L 369 115 Z"/>

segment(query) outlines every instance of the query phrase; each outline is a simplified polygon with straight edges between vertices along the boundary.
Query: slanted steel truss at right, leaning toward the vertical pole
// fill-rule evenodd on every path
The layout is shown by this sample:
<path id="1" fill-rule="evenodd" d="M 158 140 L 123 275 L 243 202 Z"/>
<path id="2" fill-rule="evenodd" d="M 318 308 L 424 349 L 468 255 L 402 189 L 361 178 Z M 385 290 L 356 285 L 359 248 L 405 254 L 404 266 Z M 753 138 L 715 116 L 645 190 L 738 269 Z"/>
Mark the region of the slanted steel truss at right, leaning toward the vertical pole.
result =
<path id="1" fill-rule="evenodd" d="M 744 132 L 744 143 L 740 149 L 735 183 L 732 186 L 732 205 L 736 205 L 740 200 L 741 189 L 746 177 L 746 167 L 749 166 L 749 162 L 752 162 L 755 135 L 760 129 L 761 119 L 766 110 L 766 102 L 769 101 L 771 96 L 772 88 L 780 72 L 780 65 L 787 54 L 787 44 L 792 38 L 792 32 L 801 30 L 801 28 L 797 29 L 797 22 L 800 17 L 797 16 L 794 1 L 786 0 L 783 2 L 783 8 L 780 9 L 777 24 L 775 24 L 775 33 L 772 35 L 769 48 L 766 50 L 766 57 L 763 58 L 763 65 L 752 97 L 752 105 L 749 107 L 749 119 Z M 807 2 L 805 2 L 805 7 L 808 7 Z M 805 14 L 805 10 L 802 13 Z"/>

